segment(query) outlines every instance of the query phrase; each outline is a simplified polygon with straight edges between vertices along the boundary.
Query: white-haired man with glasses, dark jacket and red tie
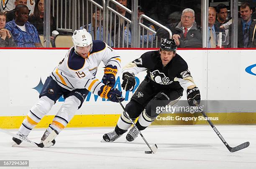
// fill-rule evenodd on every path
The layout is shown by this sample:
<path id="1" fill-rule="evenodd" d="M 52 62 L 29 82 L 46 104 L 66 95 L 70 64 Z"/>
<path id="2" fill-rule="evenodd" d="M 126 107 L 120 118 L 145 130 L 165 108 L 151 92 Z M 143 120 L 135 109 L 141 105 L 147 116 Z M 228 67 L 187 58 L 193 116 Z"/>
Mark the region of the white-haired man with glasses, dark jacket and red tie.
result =
<path id="1" fill-rule="evenodd" d="M 202 48 L 202 35 L 195 22 L 194 10 L 187 8 L 182 11 L 181 21 L 166 25 L 172 31 L 172 38 L 179 48 Z M 169 33 L 163 28 L 157 30 L 160 38 L 169 38 Z"/>

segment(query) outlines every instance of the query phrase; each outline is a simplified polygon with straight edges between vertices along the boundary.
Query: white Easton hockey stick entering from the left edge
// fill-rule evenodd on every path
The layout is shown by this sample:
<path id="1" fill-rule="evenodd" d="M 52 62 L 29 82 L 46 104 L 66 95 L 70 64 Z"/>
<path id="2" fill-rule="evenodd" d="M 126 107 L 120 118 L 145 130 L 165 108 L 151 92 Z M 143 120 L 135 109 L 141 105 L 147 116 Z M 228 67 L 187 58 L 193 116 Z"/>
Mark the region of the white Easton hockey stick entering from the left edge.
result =
<path id="1" fill-rule="evenodd" d="M 18 136 L 16 134 L 13 134 L 13 133 L 11 133 L 9 131 L 3 130 L 3 129 L 0 129 L 0 131 L 2 131 L 5 134 L 8 134 L 8 135 L 10 135 L 12 137 L 15 137 L 16 139 L 19 139 L 21 141 L 25 141 L 25 142 L 33 145 L 33 146 L 38 146 L 38 147 L 41 147 L 41 148 L 43 148 L 44 146 L 49 144 L 49 142 L 53 141 L 56 138 L 56 136 L 58 135 L 57 131 L 54 130 L 54 132 L 51 132 L 51 134 L 49 134 L 49 136 L 42 143 L 38 144 L 38 143 L 35 143 L 34 141 L 31 141 L 31 140 L 28 140 L 28 139 L 24 139 L 23 137 Z"/>

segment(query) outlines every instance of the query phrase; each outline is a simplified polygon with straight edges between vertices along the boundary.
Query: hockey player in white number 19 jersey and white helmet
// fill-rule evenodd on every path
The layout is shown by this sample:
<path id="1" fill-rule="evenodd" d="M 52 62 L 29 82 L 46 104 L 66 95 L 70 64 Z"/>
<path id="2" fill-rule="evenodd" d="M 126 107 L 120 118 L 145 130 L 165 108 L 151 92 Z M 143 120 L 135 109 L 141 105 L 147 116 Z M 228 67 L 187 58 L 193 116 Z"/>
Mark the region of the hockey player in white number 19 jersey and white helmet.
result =
<path id="1" fill-rule="evenodd" d="M 92 36 L 85 29 L 75 30 L 72 40 L 74 46 L 46 79 L 39 95 L 40 99 L 30 109 L 17 135 L 26 138 L 62 95 L 65 101 L 44 132 L 41 141 L 44 141 L 53 130 L 60 133 L 67 126 L 77 109 L 82 106 L 89 91 L 113 102 L 118 102 L 116 95 L 120 101 L 124 100 L 121 91 L 113 88 L 121 61 L 115 50 L 101 40 L 92 41 Z M 103 83 L 95 77 L 101 61 L 105 65 Z M 18 145 L 22 142 L 14 137 L 13 141 Z M 48 146 L 54 144 L 55 140 Z"/>

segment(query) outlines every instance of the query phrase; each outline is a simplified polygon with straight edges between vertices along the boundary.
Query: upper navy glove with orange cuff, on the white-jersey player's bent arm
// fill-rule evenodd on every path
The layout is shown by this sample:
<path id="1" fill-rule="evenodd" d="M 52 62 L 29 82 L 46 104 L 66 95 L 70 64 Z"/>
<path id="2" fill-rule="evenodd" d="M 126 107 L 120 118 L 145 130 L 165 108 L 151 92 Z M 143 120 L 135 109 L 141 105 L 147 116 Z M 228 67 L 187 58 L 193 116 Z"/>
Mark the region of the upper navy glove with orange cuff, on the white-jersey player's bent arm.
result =
<path id="1" fill-rule="evenodd" d="M 102 83 L 104 83 L 105 85 L 108 85 L 108 86 L 113 88 L 115 86 L 115 75 L 116 75 L 116 73 L 117 73 L 117 67 L 112 66 L 112 65 L 108 65 L 104 69 L 104 76 L 102 78 Z"/>

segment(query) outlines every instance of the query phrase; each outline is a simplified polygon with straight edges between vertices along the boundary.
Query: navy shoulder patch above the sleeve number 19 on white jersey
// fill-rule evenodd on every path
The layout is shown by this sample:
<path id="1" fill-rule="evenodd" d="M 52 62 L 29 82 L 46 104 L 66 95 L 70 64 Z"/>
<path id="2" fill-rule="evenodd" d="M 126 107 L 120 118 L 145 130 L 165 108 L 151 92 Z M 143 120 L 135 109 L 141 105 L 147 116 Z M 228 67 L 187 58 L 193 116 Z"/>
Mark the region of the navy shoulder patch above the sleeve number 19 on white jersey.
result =
<path id="1" fill-rule="evenodd" d="M 69 52 L 68 66 L 72 70 L 79 70 L 85 64 L 85 59 L 75 53 L 74 48 Z"/>

